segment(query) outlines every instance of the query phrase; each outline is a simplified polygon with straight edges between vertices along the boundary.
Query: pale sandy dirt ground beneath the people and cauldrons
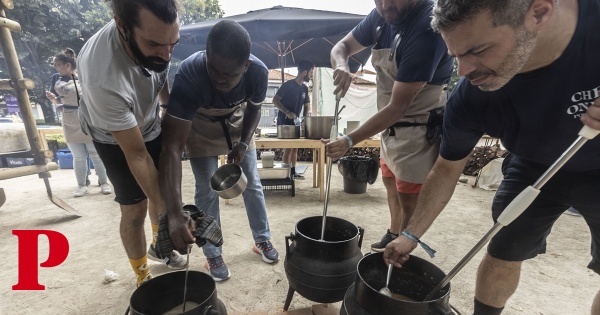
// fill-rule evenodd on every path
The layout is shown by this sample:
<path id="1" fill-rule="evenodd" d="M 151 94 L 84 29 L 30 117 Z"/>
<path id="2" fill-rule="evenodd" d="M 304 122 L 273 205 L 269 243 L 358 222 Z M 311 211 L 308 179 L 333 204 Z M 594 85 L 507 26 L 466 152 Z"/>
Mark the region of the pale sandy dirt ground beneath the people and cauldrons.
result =
<path id="1" fill-rule="evenodd" d="M 184 201 L 193 202 L 193 175 L 184 162 Z M 308 164 L 307 164 L 308 165 Z M 312 188 L 312 166 L 306 179 L 297 181 L 296 196 L 287 192 L 267 191 L 266 202 L 273 234 L 281 261 L 267 265 L 251 251 L 252 238 L 241 198 L 225 205 L 221 202 L 224 230 L 224 258 L 232 277 L 217 284 L 218 297 L 229 314 L 280 312 L 288 283 L 283 260 L 284 236 L 294 231 L 305 217 L 320 216 L 323 203 L 318 188 Z M 123 314 L 136 289 L 135 277 L 121 245 L 118 226 L 119 208 L 113 195 L 100 194 L 98 186 L 90 186 L 90 194 L 74 198 L 73 170 L 52 172 L 52 188 L 59 196 L 83 214 L 74 219 L 54 206 L 46 197 L 43 181 L 36 175 L 0 181 L 7 202 L 0 208 L 0 314 Z M 95 175 L 91 177 L 96 181 Z M 474 182 L 459 183 L 449 206 L 424 236 L 438 251 L 431 260 L 442 270 L 450 271 L 477 241 L 491 228 L 490 203 L 494 192 L 474 189 Z M 330 216 L 340 217 L 365 229 L 362 252 L 379 240 L 388 227 L 385 190 L 380 179 L 365 194 L 343 192 L 342 176 L 334 166 Z M 39 282 L 43 291 L 13 291 L 17 283 L 17 237 L 13 230 L 46 229 L 64 234 L 70 243 L 69 256 L 54 268 L 40 268 Z M 150 240 L 150 224 L 147 237 Z M 580 217 L 563 215 L 549 237 L 548 253 L 524 264 L 516 294 L 504 314 L 589 314 L 593 295 L 597 292 L 598 275 L 586 268 L 590 255 L 590 235 Z M 47 242 L 40 238 L 40 261 L 47 257 Z M 417 249 L 415 255 L 427 258 Z M 450 302 L 462 314 L 472 314 L 475 272 L 483 250 L 452 281 Z M 195 248 L 190 255 L 191 270 L 205 271 L 204 256 Z M 151 262 L 152 273 L 170 270 Z M 118 274 L 117 280 L 105 283 L 105 270 Z M 315 304 L 296 294 L 290 310 Z M 334 303 L 339 307 L 341 302 Z"/>

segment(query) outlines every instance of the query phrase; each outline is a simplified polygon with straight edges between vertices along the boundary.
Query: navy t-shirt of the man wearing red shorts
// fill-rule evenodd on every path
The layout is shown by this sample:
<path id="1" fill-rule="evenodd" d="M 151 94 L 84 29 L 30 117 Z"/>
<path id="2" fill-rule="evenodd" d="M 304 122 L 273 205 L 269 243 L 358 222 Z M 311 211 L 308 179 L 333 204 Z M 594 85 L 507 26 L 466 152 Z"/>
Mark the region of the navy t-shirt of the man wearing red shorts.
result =
<path id="1" fill-rule="evenodd" d="M 448 55 L 442 36 L 431 29 L 431 5 L 430 1 L 417 2 L 409 18 L 398 25 L 387 24 L 373 9 L 352 30 L 352 35 L 365 47 L 377 42 L 374 48 L 384 49 L 391 48 L 396 34 L 403 32 L 395 54 L 398 64 L 396 81 L 446 84 L 452 75 L 454 58 Z M 381 26 L 379 40 L 378 26 Z"/>

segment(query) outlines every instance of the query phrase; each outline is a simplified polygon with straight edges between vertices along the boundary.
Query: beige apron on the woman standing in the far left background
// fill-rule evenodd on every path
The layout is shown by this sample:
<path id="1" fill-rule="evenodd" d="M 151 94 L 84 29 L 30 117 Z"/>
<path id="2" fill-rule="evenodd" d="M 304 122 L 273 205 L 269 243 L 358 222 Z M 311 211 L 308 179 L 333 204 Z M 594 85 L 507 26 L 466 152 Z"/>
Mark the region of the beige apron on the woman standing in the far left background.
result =
<path id="1" fill-rule="evenodd" d="M 73 107 L 78 106 L 77 104 L 77 92 L 81 92 L 79 82 L 77 82 L 77 89 L 73 80 L 69 82 L 57 80 L 54 84 L 54 90 L 60 96 L 62 96 L 62 103 L 64 105 Z M 63 108 L 62 112 L 62 127 L 63 134 L 65 135 L 65 141 L 67 143 L 92 143 L 92 137 L 86 135 L 81 131 L 81 123 L 79 122 L 79 109 L 77 108 Z"/>

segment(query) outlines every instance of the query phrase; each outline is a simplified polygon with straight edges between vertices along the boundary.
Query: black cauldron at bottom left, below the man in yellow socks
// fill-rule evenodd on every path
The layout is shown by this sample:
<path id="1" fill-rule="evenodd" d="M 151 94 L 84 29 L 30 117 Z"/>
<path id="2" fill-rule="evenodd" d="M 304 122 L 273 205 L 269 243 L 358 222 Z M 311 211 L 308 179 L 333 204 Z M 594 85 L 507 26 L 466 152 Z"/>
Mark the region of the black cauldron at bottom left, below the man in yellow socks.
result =
<path id="1" fill-rule="evenodd" d="M 149 280 L 131 295 L 129 314 L 161 315 L 181 305 L 184 283 L 185 271 L 171 272 Z M 216 284 L 211 276 L 190 270 L 187 286 L 186 300 L 194 304 L 180 314 L 227 315 L 225 305 L 217 298 Z"/>

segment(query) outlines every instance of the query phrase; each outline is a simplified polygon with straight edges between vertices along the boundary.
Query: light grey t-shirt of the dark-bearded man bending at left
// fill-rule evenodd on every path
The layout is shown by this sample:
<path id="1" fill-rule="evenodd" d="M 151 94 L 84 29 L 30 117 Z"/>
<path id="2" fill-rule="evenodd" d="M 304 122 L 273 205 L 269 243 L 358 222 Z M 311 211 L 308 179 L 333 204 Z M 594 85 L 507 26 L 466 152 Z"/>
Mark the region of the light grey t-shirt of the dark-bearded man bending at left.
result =
<path id="1" fill-rule="evenodd" d="M 167 81 L 162 73 L 148 71 L 127 56 L 111 21 L 92 36 L 79 52 L 79 82 L 83 95 L 81 127 L 101 143 L 116 144 L 111 131 L 139 126 L 144 141 L 160 134 L 158 94 Z"/>

